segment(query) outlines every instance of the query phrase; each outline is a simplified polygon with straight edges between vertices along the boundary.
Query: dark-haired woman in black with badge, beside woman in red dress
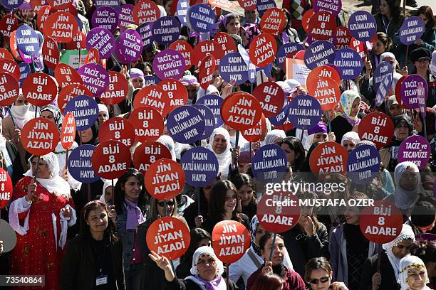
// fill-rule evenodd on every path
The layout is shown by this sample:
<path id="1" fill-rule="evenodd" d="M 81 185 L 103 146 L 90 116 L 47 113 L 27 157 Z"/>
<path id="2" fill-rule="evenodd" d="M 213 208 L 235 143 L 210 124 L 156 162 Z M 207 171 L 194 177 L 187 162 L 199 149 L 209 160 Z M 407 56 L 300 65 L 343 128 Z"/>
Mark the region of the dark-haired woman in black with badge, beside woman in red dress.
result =
<path id="1" fill-rule="evenodd" d="M 61 273 L 61 290 L 125 290 L 123 246 L 115 223 L 100 200 L 81 213 L 81 231 L 68 242 Z"/>

